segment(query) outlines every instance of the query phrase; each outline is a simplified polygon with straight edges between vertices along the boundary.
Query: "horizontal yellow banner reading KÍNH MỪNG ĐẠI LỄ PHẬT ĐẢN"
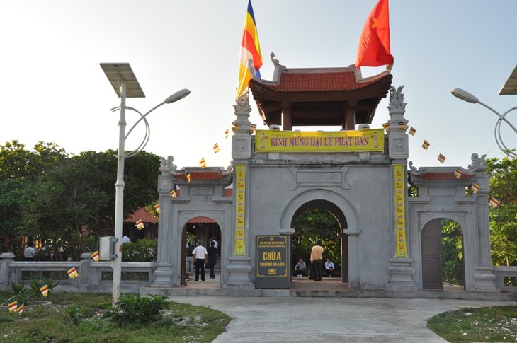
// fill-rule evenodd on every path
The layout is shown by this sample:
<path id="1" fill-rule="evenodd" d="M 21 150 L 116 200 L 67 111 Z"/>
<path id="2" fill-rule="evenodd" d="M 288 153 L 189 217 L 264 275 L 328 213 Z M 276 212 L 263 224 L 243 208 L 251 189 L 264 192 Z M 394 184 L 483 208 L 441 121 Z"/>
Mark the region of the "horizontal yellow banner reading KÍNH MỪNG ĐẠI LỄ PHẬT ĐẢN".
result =
<path id="1" fill-rule="evenodd" d="M 384 129 L 331 132 L 257 130 L 256 152 L 383 151 Z"/>

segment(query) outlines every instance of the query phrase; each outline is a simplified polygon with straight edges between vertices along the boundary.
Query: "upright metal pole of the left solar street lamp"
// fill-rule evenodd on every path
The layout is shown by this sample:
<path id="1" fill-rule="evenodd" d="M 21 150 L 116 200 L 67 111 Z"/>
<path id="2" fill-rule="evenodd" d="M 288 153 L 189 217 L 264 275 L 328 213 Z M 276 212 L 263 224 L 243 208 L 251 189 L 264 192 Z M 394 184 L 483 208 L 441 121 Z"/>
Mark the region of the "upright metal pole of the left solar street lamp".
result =
<path id="1" fill-rule="evenodd" d="M 117 182 L 115 183 L 115 259 L 113 260 L 113 298 L 115 306 L 120 297 L 120 276 L 122 274 L 122 225 L 124 208 L 124 143 L 125 143 L 125 97 L 126 84 L 120 83 L 120 121 L 118 122 Z"/>

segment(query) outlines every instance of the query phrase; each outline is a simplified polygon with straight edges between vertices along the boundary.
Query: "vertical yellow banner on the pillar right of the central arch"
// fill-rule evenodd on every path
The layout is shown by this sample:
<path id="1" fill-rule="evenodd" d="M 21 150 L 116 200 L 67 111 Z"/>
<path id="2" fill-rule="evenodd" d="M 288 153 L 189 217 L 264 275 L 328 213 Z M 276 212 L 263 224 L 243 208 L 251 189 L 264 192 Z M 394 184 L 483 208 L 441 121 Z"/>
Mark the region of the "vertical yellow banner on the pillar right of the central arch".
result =
<path id="1" fill-rule="evenodd" d="M 406 193 L 405 193 L 405 165 L 394 164 L 394 187 L 395 187 L 395 233 L 397 257 L 406 257 Z"/>

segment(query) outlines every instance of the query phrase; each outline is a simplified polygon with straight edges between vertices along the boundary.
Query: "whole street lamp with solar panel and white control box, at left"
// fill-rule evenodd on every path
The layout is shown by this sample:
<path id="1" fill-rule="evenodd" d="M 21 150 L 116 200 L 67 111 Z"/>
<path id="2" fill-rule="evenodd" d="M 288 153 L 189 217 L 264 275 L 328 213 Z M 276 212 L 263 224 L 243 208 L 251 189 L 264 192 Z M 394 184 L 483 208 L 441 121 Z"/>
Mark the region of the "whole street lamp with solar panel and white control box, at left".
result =
<path id="1" fill-rule="evenodd" d="M 156 110 L 161 105 L 174 103 L 178 100 L 185 98 L 191 93 L 188 89 L 182 89 L 177 91 L 173 95 L 166 98 L 162 103 L 152 107 L 151 110 L 147 111 L 144 115 L 133 107 L 125 105 L 125 98 L 145 98 L 144 91 L 140 87 L 135 74 L 133 73 L 129 63 L 101 63 L 101 68 L 104 74 L 108 77 L 115 93 L 120 98 L 120 106 L 111 109 L 111 112 L 120 110 L 120 120 L 118 122 L 119 135 L 118 135 L 118 154 L 117 154 L 117 182 L 115 183 L 115 257 L 111 264 L 113 267 L 113 306 L 118 302 L 120 297 L 120 276 L 122 274 L 122 226 L 123 226 L 123 207 L 124 207 L 124 158 L 135 156 L 142 151 L 147 142 L 149 141 L 149 122 L 147 122 L 147 115 L 152 111 Z M 125 134 L 125 110 L 132 110 L 140 115 L 140 119 L 133 124 L 127 134 Z M 133 129 L 141 121 L 145 124 L 145 135 L 140 146 L 130 153 L 125 153 L 125 140 L 127 136 L 132 132 Z"/>

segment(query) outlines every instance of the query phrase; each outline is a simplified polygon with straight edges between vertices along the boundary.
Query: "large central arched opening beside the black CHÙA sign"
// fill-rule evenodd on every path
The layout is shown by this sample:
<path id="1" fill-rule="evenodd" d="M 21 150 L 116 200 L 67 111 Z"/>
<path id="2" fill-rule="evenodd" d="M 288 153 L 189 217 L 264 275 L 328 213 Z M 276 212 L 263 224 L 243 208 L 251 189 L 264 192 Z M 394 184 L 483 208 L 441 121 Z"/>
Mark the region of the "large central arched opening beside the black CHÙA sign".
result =
<path id="1" fill-rule="evenodd" d="M 332 277 L 341 277 L 341 281 L 348 281 L 348 242 L 342 236 L 343 229 L 347 228 L 343 211 L 335 204 L 326 200 L 312 200 L 302 204 L 292 217 L 291 227 L 295 233 L 291 239 L 293 280 L 300 275 L 295 272 L 295 265 L 300 258 L 310 270 L 311 249 L 316 240 L 321 240 L 324 247 L 324 260 L 330 257 L 335 270 Z M 325 271 L 323 271 L 325 276 Z M 307 276 L 302 274 L 302 276 Z"/>

